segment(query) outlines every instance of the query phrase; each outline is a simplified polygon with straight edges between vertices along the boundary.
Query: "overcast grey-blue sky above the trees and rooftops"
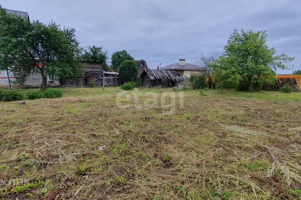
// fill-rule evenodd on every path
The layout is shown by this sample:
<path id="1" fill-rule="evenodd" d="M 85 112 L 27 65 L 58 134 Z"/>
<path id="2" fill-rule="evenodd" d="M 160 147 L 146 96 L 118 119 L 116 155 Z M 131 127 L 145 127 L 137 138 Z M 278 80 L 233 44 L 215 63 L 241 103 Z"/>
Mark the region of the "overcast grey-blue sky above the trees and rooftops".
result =
<path id="1" fill-rule="evenodd" d="M 223 52 L 233 29 L 267 30 L 267 45 L 295 57 L 301 69 L 301 1 L 200 0 L 0 0 L 4 8 L 29 12 L 30 20 L 74 27 L 81 46 L 103 46 L 109 58 L 125 49 L 150 68 L 200 52 Z M 109 59 L 110 60 L 110 59 Z M 277 73 L 291 73 L 278 70 Z"/>

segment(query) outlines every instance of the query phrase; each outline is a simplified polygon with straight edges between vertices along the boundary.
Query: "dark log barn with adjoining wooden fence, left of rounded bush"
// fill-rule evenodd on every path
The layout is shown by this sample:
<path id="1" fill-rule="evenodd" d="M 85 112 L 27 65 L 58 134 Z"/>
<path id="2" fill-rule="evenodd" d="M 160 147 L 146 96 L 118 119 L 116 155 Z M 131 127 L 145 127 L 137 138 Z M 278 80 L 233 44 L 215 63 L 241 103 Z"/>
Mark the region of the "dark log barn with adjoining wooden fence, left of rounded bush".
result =
<path id="1" fill-rule="evenodd" d="M 85 63 L 85 65 L 83 77 L 63 79 L 62 85 L 64 87 L 102 86 L 103 80 L 104 85 L 108 86 L 122 84 L 121 78 L 117 77 L 118 73 L 103 71 L 102 63 Z"/>

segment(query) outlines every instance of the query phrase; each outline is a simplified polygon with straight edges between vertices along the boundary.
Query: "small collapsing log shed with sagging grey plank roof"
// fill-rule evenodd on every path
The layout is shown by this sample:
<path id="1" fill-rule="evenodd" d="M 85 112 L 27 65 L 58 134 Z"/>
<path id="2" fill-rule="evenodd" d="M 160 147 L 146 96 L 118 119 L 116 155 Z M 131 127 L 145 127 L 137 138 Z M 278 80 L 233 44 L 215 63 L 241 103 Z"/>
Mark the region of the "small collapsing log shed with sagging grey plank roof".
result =
<path id="1" fill-rule="evenodd" d="M 143 69 L 140 75 L 141 86 L 146 88 L 176 86 L 180 79 L 174 70 Z"/>

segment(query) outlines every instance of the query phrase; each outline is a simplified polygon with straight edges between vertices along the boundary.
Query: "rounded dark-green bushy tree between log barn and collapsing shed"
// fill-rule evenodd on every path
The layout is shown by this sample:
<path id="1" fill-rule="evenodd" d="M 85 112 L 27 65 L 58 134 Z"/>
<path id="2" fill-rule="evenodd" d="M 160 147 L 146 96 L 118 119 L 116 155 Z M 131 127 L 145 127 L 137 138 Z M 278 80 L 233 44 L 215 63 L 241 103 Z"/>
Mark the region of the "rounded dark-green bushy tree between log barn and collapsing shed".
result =
<path id="1" fill-rule="evenodd" d="M 124 82 L 136 81 L 139 76 L 137 63 L 133 60 L 126 60 L 118 68 L 118 73 Z"/>

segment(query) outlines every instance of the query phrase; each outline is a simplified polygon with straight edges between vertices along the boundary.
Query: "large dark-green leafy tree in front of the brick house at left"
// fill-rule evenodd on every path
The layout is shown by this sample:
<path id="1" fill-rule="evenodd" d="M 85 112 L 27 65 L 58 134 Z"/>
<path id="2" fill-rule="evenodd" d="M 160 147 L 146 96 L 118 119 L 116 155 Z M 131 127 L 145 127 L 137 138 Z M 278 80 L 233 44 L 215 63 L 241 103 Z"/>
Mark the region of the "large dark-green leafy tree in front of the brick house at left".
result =
<path id="1" fill-rule="evenodd" d="M 11 69 L 17 83 L 40 72 L 41 90 L 47 75 L 77 77 L 83 68 L 76 59 L 80 49 L 74 33 L 74 28 L 62 29 L 52 21 L 30 22 L 0 7 L 0 70 Z"/>

